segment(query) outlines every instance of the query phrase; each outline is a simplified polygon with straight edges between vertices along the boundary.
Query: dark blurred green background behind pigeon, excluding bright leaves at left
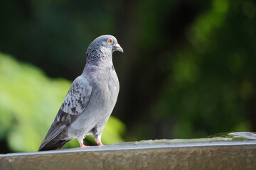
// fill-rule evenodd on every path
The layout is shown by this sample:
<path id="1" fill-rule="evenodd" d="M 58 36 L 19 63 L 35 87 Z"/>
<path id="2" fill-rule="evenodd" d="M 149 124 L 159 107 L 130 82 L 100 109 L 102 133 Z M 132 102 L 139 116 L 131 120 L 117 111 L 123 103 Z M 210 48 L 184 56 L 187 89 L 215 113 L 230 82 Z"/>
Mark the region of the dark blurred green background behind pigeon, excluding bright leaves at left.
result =
<path id="1" fill-rule="evenodd" d="M 1 0 L 0 23 L 0 51 L 50 79 L 73 81 L 114 35 L 125 141 L 256 131 L 255 1 Z"/>

